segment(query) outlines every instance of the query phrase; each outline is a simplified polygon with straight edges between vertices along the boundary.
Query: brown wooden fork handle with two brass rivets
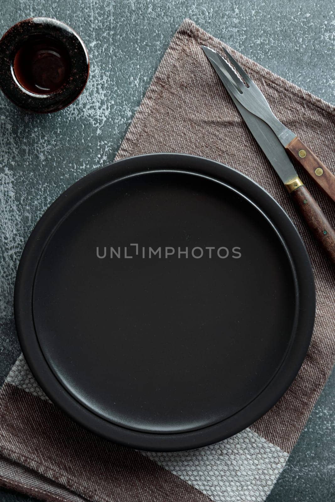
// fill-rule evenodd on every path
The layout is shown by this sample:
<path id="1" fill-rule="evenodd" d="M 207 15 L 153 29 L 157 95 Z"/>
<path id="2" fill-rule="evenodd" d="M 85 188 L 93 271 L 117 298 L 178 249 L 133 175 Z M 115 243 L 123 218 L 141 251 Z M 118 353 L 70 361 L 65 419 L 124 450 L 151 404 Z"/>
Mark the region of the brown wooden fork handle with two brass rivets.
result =
<path id="1" fill-rule="evenodd" d="M 285 147 L 285 150 L 335 202 L 335 176 L 322 164 L 316 155 L 299 138 L 294 138 Z"/>

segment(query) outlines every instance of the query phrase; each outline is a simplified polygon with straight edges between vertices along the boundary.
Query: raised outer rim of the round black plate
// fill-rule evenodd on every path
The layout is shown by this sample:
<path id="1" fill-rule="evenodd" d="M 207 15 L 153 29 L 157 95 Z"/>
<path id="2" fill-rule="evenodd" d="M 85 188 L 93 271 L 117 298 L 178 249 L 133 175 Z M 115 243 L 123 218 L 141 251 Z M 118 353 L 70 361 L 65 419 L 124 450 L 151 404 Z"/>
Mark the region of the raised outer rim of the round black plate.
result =
<path id="1" fill-rule="evenodd" d="M 176 164 L 181 167 L 176 167 Z M 272 381 L 260 395 L 226 420 L 201 429 L 166 434 L 137 431 L 113 424 L 76 401 L 62 386 L 43 355 L 34 331 L 32 308 L 39 258 L 56 223 L 59 224 L 67 212 L 75 207 L 73 201 L 79 197 L 78 204 L 81 203 L 85 195 L 92 194 L 113 180 L 155 170 L 202 174 L 228 184 L 254 203 L 283 239 L 296 274 L 299 293 L 299 319 L 294 343 Z M 19 263 L 14 313 L 19 341 L 28 366 L 45 394 L 68 416 L 86 429 L 125 446 L 152 451 L 176 451 L 198 448 L 226 439 L 250 426 L 278 402 L 294 380 L 309 347 L 315 315 L 315 286 L 309 257 L 297 229 L 284 209 L 262 187 L 239 171 L 216 161 L 187 154 L 153 153 L 122 159 L 92 171 L 71 185 L 49 206 L 31 232 Z M 292 361 L 288 361 L 289 355 Z"/>

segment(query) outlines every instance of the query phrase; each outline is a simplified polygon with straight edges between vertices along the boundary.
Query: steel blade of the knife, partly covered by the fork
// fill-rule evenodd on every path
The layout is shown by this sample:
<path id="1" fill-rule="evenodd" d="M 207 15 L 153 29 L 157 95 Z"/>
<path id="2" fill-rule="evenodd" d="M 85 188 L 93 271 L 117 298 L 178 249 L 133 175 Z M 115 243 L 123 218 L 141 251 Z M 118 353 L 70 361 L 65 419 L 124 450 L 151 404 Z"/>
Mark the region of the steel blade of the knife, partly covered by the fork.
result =
<path id="1" fill-rule="evenodd" d="M 221 79 L 220 72 L 223 72 L 220 59 L 215 51 L 209 47 L 202 46 L 202 50 L 206 54 L 216 73 Z M 226 86 L 225 86 L 226 87 Z M 227 87 L 226 87 L 227 89 Z M 250 132 L 257 141 L 260 148 L 263 150 L 268 161 L 275 169 L 281 181 L 285 184 L 290 180 L 297 177 L 297 173 L 284 150 L 283 145 L 277 138 L 276 134 L 272 131 L 270 126 L 264 120 L 247 110 L 227 89 L 231 98 L 233 99 L 236 107 L 241 113 L 244 121 L 246 122 Z"/>

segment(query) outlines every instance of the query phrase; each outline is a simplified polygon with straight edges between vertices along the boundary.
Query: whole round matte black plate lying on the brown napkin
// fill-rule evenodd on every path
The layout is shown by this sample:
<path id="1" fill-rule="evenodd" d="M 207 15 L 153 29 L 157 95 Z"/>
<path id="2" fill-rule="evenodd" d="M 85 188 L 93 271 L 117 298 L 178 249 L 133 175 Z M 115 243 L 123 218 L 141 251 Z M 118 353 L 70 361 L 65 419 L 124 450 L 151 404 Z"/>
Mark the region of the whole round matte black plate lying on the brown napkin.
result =
<path id="1" fill-rule="evenodd" d="M 227 166 L 173 154 L 71 186 L 32 232 L 15 289 L 22 349 L 50 399 L 148 450 L 213 443 L 269 410 L 314 310 L 309 259 L 280 206 Z"/>

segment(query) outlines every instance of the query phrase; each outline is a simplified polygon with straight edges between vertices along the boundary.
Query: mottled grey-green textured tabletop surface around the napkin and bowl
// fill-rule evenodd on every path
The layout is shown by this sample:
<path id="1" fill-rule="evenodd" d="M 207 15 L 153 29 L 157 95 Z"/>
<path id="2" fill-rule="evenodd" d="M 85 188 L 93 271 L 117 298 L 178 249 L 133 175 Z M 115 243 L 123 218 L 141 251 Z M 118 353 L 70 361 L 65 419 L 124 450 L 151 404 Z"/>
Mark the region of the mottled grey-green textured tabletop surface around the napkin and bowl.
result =
<path id="1" fill-rule="evenodd" d="M 331 7 L 332 5 L 332 7 Z M 0 0 L 0 34 L 30 16 L 72 26 L 91 75 L 81 97 L 28 115 L 0 95 L 0 381 L 20 353 L 12 297 L 24 243 L 70 184 L 113 161 L 171 37 L 185 17 L 275 73 L 335 104 L 335 7 L 238 0 Z M 334 124 L 335 129 L 335 124 Z M 335 374 L 330 377 L 268 502 L 335 500 Z M 0 500 L 30 500 L 0 490 Z M 233 502 L 248 502 L 233 501 Z"/>

